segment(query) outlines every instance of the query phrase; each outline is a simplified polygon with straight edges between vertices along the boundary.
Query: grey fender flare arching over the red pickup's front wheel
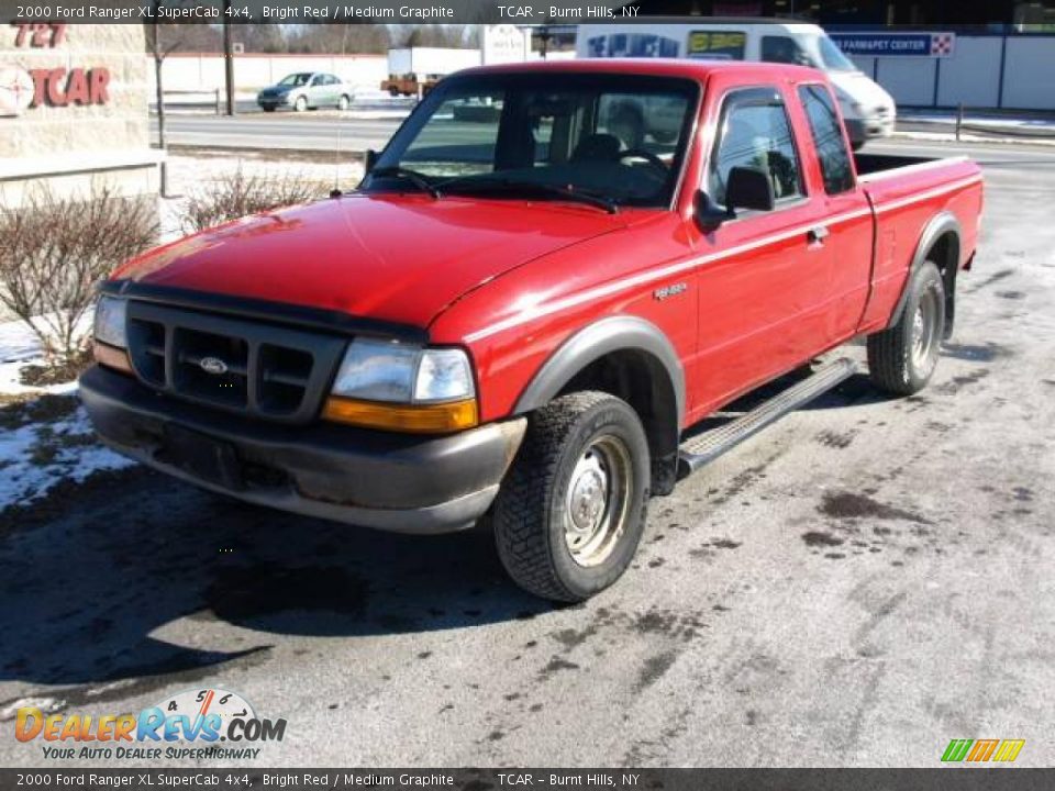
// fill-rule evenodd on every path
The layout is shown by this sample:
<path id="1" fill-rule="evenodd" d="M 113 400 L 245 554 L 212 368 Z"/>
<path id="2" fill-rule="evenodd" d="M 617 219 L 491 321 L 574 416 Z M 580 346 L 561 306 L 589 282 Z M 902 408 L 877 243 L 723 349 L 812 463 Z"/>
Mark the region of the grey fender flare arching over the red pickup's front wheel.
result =
<path id="1" fill-rule="evenodd" d="M 579 371 L 613 352 L 644 352 L 657 360 L 670 380 L 677 427 L 685 419 L 685 371 L 670 341 L 655 324 L 637 316 L 610 316 L 579 330 L 549 355 L 517 400 L 514 414 L 544 406 Z"/>

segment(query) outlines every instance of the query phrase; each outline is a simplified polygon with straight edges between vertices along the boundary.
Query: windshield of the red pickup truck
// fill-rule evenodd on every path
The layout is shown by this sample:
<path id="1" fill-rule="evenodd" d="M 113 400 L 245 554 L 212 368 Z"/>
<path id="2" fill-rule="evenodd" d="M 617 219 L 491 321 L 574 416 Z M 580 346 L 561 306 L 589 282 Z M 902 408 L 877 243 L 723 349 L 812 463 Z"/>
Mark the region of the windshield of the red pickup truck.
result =
<path id="1" fill-rule="evenodd" d="M 559 199 L 564 190 L 666 207 L 697 94 L 690 80 L 615 74 L 448 79 L 396 134 L 364 188 L 406 188 L 395 170 L 402 168 L 441 192 Z"/>

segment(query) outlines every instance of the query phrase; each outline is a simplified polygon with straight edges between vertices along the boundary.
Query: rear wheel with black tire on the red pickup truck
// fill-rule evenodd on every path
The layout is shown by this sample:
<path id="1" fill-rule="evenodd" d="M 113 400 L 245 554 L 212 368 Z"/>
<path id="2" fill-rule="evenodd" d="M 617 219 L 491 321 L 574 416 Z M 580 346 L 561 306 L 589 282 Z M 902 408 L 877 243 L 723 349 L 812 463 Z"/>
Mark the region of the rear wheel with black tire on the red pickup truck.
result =
<path id="1" fill-rule="evenodd" d="M 898 323 L 868 336 L 871 381 L 895 396 L 911 396 L 931 380 L 945 327 L 945 283 L 934 261 L 912 272 Z"/>

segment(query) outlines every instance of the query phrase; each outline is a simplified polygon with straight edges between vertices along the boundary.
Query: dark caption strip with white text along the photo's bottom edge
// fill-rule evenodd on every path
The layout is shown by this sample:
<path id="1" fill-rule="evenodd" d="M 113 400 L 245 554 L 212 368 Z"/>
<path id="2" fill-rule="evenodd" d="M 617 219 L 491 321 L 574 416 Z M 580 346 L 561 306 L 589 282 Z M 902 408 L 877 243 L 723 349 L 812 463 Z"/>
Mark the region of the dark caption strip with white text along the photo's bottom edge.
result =
<path id="1" fill-rule="evenodd" d="M 0 789 L 1050 791 L 1053 769 L 0 769 Z"/>

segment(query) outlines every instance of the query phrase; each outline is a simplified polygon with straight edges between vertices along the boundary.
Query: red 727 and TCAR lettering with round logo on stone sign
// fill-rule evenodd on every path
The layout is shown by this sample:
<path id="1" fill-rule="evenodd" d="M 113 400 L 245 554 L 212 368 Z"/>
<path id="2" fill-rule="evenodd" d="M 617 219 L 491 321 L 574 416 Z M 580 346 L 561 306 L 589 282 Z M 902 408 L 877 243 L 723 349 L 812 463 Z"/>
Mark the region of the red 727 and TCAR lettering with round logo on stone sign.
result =
<path id="1" fill-rule="evenodd" d="M 16 22 L 14 45 L 29 48 L 54 48 L 66 41 L 65 24 Z M 21 115 L 42 105 L 69 107 L 106 104 L 110 101 L 110 69 L 31 68 L 0 64 L 0 116 Z"/>

